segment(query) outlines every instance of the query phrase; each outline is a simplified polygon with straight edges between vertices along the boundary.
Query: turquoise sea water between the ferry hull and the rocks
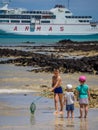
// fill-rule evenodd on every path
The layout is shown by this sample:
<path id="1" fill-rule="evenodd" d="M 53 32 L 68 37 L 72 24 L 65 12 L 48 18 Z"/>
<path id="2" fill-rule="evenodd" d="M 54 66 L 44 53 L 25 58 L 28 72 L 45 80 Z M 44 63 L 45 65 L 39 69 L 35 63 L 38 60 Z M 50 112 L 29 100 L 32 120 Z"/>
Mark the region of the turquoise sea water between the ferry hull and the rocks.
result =
<path id="1" fill-rule="evenodd" d="M 0 46 L 50 45 L 60 40 L 98 41 L 98 34 L 87 36 L 19 36 L 0 35 Z"/>

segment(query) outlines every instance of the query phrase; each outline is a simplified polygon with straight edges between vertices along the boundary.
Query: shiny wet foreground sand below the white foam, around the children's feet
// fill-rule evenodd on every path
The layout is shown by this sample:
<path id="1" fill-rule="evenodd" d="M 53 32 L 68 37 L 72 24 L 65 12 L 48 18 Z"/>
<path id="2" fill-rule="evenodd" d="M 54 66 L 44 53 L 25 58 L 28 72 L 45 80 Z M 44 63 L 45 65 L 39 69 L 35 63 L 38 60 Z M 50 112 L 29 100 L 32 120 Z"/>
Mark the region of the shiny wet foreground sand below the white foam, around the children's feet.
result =
<path id="1" fill-rule="evenodd" d="M 53 115 L 53 99 L 40 98 L 34 93 L 0 94 L 0 130 L 97 130 L 98 109 L 89 109 L 87 119 L 79 119 L 79 109 L 75 108 L 75 117 Z M 30 104 L 34 101 L 36 111 L 30 113 Z"/>

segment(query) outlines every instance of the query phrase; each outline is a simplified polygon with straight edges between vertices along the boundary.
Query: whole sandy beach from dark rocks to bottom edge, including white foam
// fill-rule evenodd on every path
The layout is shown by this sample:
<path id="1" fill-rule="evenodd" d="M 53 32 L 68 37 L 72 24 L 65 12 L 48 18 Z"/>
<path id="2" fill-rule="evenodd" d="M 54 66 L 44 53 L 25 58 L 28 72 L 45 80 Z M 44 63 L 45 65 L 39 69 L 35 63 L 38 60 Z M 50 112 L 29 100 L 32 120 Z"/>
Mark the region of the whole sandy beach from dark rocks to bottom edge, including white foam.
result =
<path id="1" fill-rule="evenodd" d="M 53 99 L 36 96 L 41 86 L 51 87 L 52 73 L 29 72 L 32 68 L 14 65 L 0 65 L 0 130 L 96 130 L 98 128 L 98 108 L 89 109 L 87 119 L 79 119 L 79 108 L 75 108 L 75 118 L 53 115 Z M 61 74 L 63 87 L 71 83 L 76 87 L 81 73 Z M 85 74 L 90 88 L 97 88 L 97 75 Z M 30 104 L 36 104 L 35 114 L 30 113 Z"/>

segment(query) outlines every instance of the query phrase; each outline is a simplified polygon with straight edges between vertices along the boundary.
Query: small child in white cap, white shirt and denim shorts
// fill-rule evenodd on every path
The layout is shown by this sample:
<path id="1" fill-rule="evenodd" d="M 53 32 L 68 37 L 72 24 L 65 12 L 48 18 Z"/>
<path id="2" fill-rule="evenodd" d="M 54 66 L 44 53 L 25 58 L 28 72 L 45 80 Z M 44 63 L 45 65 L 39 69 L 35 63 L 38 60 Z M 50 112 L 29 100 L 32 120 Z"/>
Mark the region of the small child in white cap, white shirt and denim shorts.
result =
<path id="1" fill-rule="evenodd" d="M 74 93 L 72 91 L 72 85 L 67 84 L 66 90 L 67 90 L 67 92 L 65 92 L 65 94 L 64 94 L 64 104 L 66 104 L 67 118 L 70 117 L 70 114 L 71 114 L 71 118 L 73 118 L 74 117 L 75 97 L 74 97 Z"/>

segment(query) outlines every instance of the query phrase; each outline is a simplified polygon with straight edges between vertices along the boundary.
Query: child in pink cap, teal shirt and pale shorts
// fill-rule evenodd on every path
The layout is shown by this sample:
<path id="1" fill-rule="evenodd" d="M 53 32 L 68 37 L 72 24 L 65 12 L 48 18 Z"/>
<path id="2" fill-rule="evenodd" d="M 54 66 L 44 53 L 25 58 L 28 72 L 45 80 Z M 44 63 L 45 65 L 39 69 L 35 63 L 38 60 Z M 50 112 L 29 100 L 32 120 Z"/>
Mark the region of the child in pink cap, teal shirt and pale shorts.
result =
<path id="1" fill-rule="evenodd" d="M 89 87 L 86 82 L 85 76 L 79 77 L 80 85 L 76 87 L 76 90 L 78 92 L 78 98 L 79 98 L 79 105 L 80 105 L 80 116 L 79 118 L 83 117 L 83 111 L 84 111 L 84 118 L 87 117 L 88 113 L 88 102 L 90 100 L 90 92 Z"/>

